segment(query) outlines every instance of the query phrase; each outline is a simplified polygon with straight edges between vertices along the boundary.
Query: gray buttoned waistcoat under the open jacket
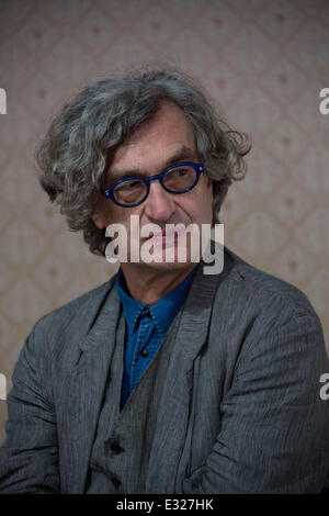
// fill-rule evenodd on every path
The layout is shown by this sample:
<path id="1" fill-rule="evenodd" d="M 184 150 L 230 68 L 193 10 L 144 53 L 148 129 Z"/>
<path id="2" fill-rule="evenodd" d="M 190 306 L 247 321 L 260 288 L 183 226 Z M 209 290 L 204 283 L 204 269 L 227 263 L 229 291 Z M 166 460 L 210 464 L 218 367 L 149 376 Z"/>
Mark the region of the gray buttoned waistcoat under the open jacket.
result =
<path id="1" fill-rule="evenodd" d="M 105 399 L 92 447 L 87 493 L 145 493 L 157 414 L 180 314 L 120 412 L 125 340 L 123 311 L 110 364 Z M 162 379 L 162 381 L 160 381 Z M 160 474 L 160 473 L 159 473 Z"/>

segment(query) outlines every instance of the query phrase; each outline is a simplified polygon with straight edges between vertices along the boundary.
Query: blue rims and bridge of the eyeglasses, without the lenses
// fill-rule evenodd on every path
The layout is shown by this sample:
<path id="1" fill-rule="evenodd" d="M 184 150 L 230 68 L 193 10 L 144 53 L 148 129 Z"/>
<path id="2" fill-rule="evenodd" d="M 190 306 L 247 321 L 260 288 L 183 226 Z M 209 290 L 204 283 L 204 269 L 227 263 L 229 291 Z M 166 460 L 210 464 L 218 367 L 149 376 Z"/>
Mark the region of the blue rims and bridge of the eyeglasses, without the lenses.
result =
<path id="1" fill-rule="evenodd" d="M 169 190 L 168 188 L 164 187 L 163 184 L 163 178 L 164 176 L 175 169 L 175 168 L 180 168 L 180 167 L 193 167 L 194 170 L 195 170 L 195 173 L 196 173 L 196 178 L 195 178 L 195 181 L 193 182 L 193 184 L 191 184 L 191 187 L 186 188 L 185 190 L 181 191 L 181 192 L 173 192 L 171 190 Z M 134 206 L 138 206 L 139 204 L 141 204 L 144 201 L 146 201 L 146 199 L 148 198 L 148 194 L 149 194 L 149 189 L 150 189 L 150 182 L 151 181 L 159 181 L 161 187 L 163 188 L 163 190 L 166 190 L 168 193 L 172 193 L 173 195 L 181 195 L 182 193 L 186 193 L 189 192 L 190 190 L 192 190 L 194 187 L 196 187 L 196 184 L 198 183 L 198 180 L 200 180 L 200 176 L 202 172 L 205 171 L 205 168 L 204 168 L 204 164 L 203 162 L 198 162 L 198 164 L 195 164 L 194 161 L 180 161 L 178 164 L 174 164 L 174 165 L 170 165 L 169 167 L 164 168 L 164 170 L 162 170 L 162 172 L 160 173 L 157 173 L 155 176 L 150 176 L 150 177 L 143 177 L 143 176 L 129 176 L 127 178 L 122 178 L 122 179 L 118 179 L 117 181 L 115 181 L 113 184 L 111 184 L 111 187 L 107 187 L 105 188 L 104 190 L 102 190 L 102 195 L 105 198 L 105 199 L 111 199 L 111 201 L 113 201 L 116 205 L 118 206 L 122 206 L 122 207 L 134 207 Z M 118 186 L 118 184 L 122 184 L 122 183 L 125 183 L 127 181 L 132 181 L 132 180 L 139 180 L 141 182 L 144 182 L 144 184 L 146 186 L 147 190 L 146 190 L 146 194 L 145 197 L 141 199 L 141 201 L 138 201 L 138 202 L 135 202 L 134 204 L 122 204 L 121 202 L 116 201 L 116 199 L 114 199 L 114 189 Z"/>

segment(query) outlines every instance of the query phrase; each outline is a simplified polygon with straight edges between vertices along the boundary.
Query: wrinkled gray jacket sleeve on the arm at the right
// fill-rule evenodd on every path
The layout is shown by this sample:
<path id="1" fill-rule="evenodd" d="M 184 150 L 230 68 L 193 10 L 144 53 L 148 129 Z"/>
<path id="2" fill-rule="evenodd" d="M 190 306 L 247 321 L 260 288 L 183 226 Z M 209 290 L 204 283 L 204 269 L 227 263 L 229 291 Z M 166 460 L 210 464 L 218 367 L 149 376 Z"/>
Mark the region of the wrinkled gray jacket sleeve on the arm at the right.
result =
<path id="1" fill-rule="evenodd" d="M 252 334 L 252 332 L 251 332 Z M 329 470 L 329 372 L 322 330 L 311 312 L 251 338 L 220 404 L 220 431 L 186 493 L 319 493 Z"/>

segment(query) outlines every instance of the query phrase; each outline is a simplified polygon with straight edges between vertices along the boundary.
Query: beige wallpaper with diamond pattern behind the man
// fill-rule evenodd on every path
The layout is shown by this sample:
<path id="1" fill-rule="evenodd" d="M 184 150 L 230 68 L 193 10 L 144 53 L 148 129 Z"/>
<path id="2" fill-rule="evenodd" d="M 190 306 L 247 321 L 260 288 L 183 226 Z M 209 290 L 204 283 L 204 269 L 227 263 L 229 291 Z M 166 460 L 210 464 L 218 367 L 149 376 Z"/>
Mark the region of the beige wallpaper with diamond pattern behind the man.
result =
<path id="1" fill-rule="evenodd" d="M 192 72 L 252 136 L 247 178 L 222 211 L 225 242 L 302 289 L 329 343 L 327 0 L 0 0 L 0 372 L 10 377 L 45 313 L 113 269 L 67 231 L 37 183 L 33 152 L 87 82 L 140 60 Z M 7 408 L 0 401 L 0 440 Z"/>

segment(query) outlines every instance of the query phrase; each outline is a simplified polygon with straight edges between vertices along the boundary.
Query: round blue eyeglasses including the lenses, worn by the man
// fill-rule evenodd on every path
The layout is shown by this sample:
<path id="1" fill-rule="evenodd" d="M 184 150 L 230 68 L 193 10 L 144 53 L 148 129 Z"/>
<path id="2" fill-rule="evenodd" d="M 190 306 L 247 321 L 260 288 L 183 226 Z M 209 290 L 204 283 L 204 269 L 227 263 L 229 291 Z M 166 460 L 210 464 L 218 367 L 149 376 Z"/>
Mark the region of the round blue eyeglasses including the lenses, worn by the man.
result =
<path id="1" fill-rule="evenodd" d="M 204 172 L 203 164 L 193 161 L 181 161 L 166 168 L 157 176 L 143 178 L 133 176 L 118 179 L 111 187 L 102 191 L 105 199 L 111 199 L 115 204 L 123 207 L 133 207 L 141 204 L 149 194 L 150 182 L 160 181 L 161 187 L 169 193 L 179 195 L 194 188 Z"/>

